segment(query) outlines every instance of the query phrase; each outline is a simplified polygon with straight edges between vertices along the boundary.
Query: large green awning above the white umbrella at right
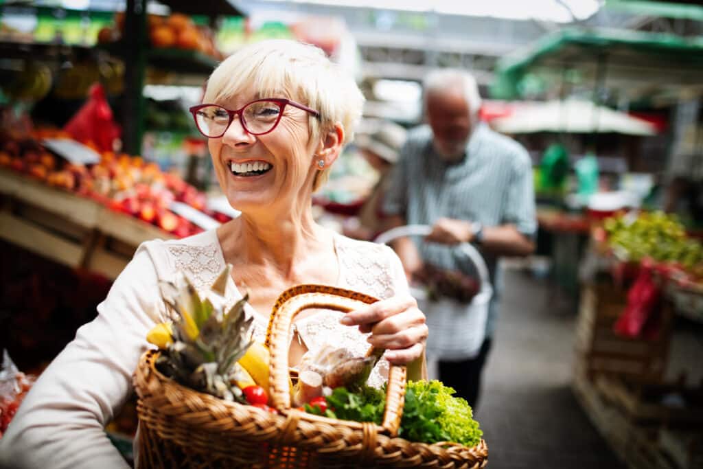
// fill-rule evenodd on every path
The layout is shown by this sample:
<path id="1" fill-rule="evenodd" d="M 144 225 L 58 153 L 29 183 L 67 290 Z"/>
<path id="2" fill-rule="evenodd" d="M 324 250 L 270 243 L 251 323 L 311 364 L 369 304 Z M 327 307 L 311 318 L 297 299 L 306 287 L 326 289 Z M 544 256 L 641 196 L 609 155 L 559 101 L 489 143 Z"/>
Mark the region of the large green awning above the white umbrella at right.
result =
<path id="1" fill-rule="evenodd" d="M 636 97 L 654 90 L 671 92 L 703 82 L 703 37 L 627 30 L 565 29 L 548 34 L 496 65 L 494 98 L 524 97 L 535 83 L 560 86 L 563 79 Z"/>

